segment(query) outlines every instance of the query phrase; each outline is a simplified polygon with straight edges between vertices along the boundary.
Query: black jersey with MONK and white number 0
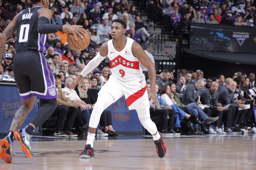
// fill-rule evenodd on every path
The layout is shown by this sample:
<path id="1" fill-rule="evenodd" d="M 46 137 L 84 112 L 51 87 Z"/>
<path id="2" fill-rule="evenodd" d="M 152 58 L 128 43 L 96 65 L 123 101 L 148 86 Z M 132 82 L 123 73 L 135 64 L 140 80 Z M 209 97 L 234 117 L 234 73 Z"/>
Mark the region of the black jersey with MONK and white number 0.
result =
<path id="1" fill-rule="evenodd" d="M 47 39 L 46 34 L 40 34 L 37 32 L 37 13 L 43 9 L 41 6 L 35 6 L 21 11 L 17 18 L 17 51 L 41 51 L 47 52 L 44 47 Z"/>

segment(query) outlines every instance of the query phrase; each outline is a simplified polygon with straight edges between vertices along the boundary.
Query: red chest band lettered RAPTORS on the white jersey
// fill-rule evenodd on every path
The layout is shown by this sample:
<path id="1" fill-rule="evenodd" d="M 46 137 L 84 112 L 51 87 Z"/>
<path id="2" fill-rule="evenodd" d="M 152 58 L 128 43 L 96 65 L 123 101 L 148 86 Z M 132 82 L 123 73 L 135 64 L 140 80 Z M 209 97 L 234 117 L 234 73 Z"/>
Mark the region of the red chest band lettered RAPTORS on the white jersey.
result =
<path id="1" fill-rule="evenodd" d="M 118 55 L 113 60 L 110 60 L 109 64 L 110 64 L 110 69 L 121 64 L 122 66 L 130 68 L 130 69 L 140 70 L 140 62 L 127 60 L 124 57 L 122 57 L 121 55 Z"/>

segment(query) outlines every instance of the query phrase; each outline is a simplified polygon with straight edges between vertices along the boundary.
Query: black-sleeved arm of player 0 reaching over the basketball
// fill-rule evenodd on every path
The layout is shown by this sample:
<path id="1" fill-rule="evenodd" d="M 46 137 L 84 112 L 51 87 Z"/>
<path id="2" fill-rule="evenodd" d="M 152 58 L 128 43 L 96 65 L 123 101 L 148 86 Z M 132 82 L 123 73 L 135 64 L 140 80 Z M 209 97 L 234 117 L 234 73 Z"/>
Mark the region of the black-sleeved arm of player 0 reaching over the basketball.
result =
<path id="1" fill-rule="evenodd" d="M 81 38 L 83 38 L 83 35 L 86 35 L 86 31 L 83 29 L 83 26 L 49 24 L 51 17 L 52 11 L 50 9 L 44 8 L 39 10 L 37 20 L 37 31 L 39 33 L 48 34 L 60 31 L 68 31 L 74 35 L 75 40 L 76 34 Z"/>

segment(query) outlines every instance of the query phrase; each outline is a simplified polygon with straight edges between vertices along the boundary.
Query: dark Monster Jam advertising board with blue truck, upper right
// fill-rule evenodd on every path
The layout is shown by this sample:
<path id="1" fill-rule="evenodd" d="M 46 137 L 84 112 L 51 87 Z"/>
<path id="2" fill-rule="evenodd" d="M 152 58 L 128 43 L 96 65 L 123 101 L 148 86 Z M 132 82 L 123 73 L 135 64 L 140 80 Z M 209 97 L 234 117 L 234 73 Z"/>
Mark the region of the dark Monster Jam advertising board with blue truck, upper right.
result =
<path id="1" fill-rule="evenodd" d="M 256 53 L 255 27 L 191 24 L 192 50 Z"/>

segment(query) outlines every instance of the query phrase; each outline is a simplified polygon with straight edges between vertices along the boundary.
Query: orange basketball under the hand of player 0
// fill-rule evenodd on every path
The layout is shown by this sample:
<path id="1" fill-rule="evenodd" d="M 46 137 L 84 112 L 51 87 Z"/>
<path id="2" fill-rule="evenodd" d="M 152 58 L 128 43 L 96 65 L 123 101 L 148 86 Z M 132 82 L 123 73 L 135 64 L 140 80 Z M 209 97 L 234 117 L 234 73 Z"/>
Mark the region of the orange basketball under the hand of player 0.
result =
<path id="1" fill-rule="evenodd" d="M 82 35 L 83 36 L 83 35 Z M 83 36 L 83 38 L 76 35 L 77 40 L 75 40 L 72 33 L 68 33 L 67 41 L 70 48 L 76 51 L 81 51 L 87 48 L 90 44 L 90 35 L 87 32 L 86 36 Z"/>

